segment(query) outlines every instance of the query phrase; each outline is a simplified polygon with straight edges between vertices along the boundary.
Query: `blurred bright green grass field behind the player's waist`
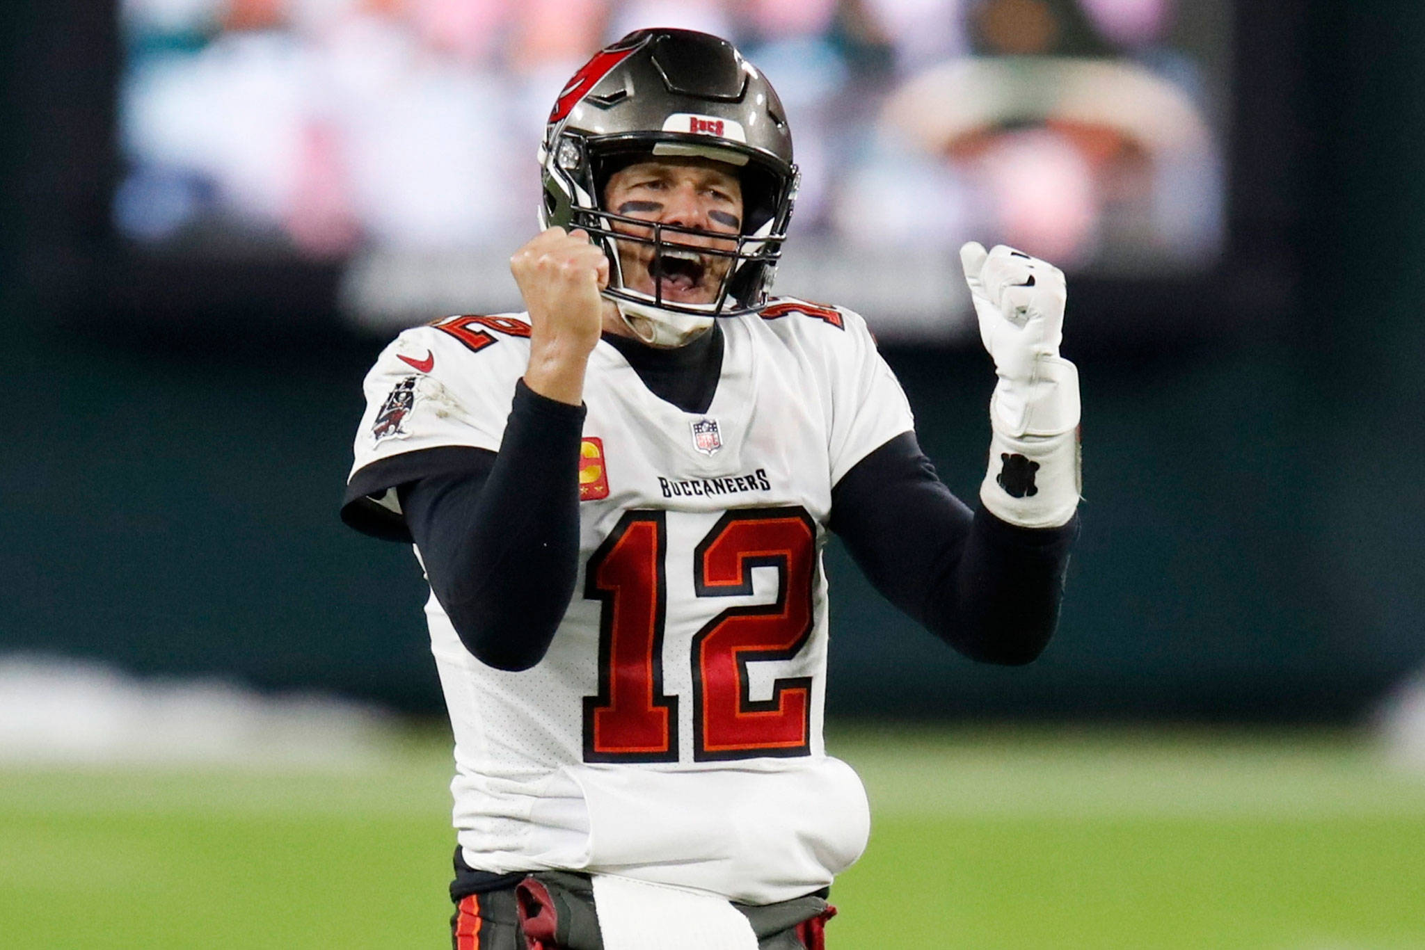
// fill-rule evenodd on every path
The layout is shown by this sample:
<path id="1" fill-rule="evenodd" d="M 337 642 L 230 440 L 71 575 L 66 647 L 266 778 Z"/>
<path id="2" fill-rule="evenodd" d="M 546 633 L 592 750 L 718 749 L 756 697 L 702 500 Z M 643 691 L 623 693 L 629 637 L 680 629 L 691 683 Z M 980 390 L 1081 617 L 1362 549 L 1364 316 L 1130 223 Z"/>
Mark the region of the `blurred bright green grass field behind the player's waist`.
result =
<path id="1" fill-rule="evenodd" d="M 871 847 L 832 950 L 1425 949 L 1425 775 L 1347 734 L 831 731 Z M 447 749 L 0 771 L 0 947 L 443 947 Z"/>

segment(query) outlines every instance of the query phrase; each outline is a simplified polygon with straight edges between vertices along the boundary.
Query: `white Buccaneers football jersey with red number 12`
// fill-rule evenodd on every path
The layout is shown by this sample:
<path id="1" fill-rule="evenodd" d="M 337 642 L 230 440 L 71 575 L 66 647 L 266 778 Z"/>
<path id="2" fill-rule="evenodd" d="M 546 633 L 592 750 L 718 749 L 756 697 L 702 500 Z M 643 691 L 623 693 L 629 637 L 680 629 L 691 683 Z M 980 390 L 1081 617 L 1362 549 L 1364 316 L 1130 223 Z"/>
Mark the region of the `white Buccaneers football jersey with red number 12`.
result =
<path id="1" fill-rule="evenodd" d="M 456 316 L 388 346 L 365 383 L 353 484 L 408 453 L 499 450 L 527 319 Z M 825 887 L 865 847 L 865 792 L 822 743 L 821 550 L 832 486 L 911 430 L 911 410 L 855 313 L 782 298 L 721 326 L 705 413 L 594 349 L 580 573 L 536 667 L 486 667 L 426 604 L 472 867 L 771 903 Z M 395 491 L 372 497 L 398 510 Z"/>

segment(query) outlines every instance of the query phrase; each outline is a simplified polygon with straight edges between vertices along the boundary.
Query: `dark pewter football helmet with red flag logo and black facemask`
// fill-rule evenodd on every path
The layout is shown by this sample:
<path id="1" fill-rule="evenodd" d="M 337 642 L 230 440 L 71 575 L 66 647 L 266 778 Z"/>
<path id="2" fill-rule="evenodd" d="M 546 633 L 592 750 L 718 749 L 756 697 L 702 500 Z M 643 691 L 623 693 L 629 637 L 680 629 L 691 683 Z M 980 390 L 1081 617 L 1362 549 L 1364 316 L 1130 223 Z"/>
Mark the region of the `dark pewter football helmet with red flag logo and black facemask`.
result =
<path id="1" fill-rule="evenodd" d="M 611 174 L 660 155 L 710 158 L 735 169 L 742 187 L 735 238 L 603 207 Z M 680 346 L 714 318 L 755 312 L 764 302 L 787 238 L 798 172 L 777 91 L 727 40 L 691 30 L 637 30 L 600 50 L 554 103 L 539 161 L 540 228 L 583 228 L 603 245 L 610 265 L 603 295 L 646 343 Z M 638 226 L 647 236 L 614 231 L 616 224 Z M 721 239 L 720 246 L 695 251 L 731 259 L 710 303 L 664 299 L 658 262 L 677 251 L 681 235 Z M 624 285 L 617 241 L 653 245 L 653 295 Z"/>

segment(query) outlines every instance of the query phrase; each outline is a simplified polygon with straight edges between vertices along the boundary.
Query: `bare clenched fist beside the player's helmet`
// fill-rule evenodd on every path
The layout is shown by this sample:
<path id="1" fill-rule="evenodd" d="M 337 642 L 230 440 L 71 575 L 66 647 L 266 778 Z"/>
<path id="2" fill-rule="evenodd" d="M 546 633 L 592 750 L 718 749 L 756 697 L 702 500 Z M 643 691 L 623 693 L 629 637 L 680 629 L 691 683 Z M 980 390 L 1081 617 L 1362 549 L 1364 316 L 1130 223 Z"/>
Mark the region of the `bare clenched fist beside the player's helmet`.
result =
<path id="1" fill-rule="evenodd" d="M 598 343 L 608 258 L 583 231 L 549 228 L 510 258 L 510 273 L 530 315 L 530 366 L 524 385 L 577 406 L 584 365 Z"/>

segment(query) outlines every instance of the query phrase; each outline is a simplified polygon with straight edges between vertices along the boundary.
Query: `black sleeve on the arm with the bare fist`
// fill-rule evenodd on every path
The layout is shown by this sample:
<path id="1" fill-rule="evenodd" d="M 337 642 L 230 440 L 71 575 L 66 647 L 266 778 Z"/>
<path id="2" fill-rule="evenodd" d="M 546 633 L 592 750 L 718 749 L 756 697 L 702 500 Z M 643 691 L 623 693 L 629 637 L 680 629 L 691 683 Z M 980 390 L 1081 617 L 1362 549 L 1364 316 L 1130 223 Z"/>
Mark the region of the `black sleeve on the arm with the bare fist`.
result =
<path id="1" fill-rule="evenodd" d="M 398 489 L 426 578 L 476 659 L 529 669 L 554 640 L 579 573 L 584 407 L 520 380 L 499 453 Z"/>

